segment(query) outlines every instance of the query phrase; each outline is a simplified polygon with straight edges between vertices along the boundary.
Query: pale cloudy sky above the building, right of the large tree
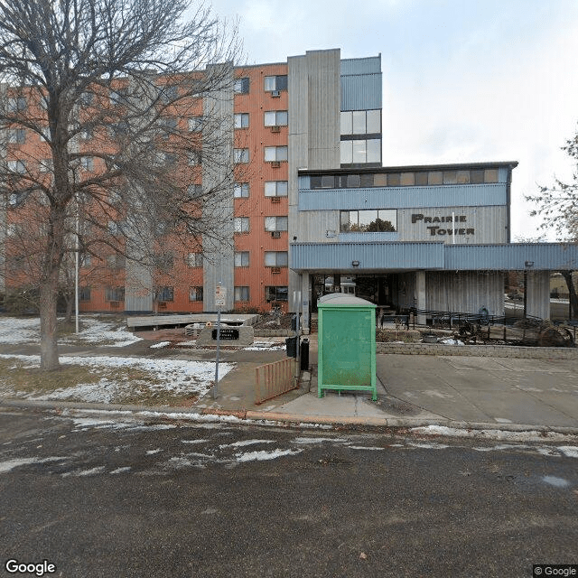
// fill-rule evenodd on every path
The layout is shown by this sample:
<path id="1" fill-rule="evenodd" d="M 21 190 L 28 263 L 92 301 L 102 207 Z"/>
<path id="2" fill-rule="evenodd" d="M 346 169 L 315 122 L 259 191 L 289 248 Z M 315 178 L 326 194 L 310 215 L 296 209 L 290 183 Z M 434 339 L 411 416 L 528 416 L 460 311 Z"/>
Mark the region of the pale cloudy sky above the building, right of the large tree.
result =
<path id="1" fill-rule="evenodd" d="M 536 236 L 524 195 L 578 128 L 576 0 L 213 0 L 240 19 L 248 64 L 340 48 L 381 53 L 383 164 L 517 161 L 512 239 Z M 554 237 L 550 237 L 554 239 Z"/>

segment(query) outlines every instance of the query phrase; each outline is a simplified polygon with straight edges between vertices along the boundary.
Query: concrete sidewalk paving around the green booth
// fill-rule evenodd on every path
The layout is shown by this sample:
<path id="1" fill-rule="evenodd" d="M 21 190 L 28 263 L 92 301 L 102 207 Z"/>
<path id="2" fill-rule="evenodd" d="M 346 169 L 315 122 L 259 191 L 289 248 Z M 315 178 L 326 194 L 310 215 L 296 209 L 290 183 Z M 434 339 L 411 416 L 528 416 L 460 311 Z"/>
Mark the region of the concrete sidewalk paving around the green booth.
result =
<path id="1" fill-rule="evenodd" d="M 578 359 L 378 354 L 377 402 L 372 402 L 370 394 L 365 392 L 328 392 L 319 398 L 315 337 L 310 338 L 313 371 L 309 387 L 301 387 L 256 406 L 255 368 L 284 359 L 284 351 L 228 350 L 223 352 L 223 360 L 235 362 L 236 368 L 219 381 L 216 397 L 209 392 L 187 411 L 237 412 L 252 418 L 294 422 L 387 426 L 445 424 L 474 428 L 545 428 L 578 433 Z M 162 340 L 163 336 L 159 334 L 157 339 Z M 122 348 L 122 354 L 214 359 L 214 351 L 210 350 L 154 350 L 152 353 L 148 345 L 150 342 L 140 342 Z M 22 347 L 16 346 L 3 347 L 2 351 L 14 352 L 16 349 L 23 352 Z M 66 348 L 61 348 L 61 353 L 67 352 Z M 106 351 L 107 354 L 111 352 L 111 349 Z M 98 350 L 91 353 L 98 355 Z"/>

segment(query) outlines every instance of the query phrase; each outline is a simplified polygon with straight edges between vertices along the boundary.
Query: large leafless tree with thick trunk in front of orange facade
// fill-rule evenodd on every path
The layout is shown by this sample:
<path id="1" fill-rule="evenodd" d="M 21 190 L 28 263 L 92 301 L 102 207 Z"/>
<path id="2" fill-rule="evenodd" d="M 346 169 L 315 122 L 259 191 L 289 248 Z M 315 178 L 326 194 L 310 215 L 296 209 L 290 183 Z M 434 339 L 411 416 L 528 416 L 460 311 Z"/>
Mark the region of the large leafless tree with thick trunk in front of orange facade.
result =
<path id="1" fill-rule="evenodd" d="M 183 20 L 189 9 L 0 0 L 5 269 L 12 251 L 40 288 L 42 368 L 59 366 L 67 254 L 152 266 L 161 247 L 230 238 L 238 37 L 204 6 Z"/>

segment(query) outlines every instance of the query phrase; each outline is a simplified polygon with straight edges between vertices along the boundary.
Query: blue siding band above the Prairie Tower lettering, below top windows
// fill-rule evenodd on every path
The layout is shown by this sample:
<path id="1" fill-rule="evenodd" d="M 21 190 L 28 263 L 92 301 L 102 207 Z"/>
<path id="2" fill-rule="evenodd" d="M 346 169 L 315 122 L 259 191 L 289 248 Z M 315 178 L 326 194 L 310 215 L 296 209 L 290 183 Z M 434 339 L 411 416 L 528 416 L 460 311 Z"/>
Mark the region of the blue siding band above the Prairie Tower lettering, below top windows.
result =
<path id="1" fill-rule="evenodd" d="M 299 191 L 299 210 L 485 207 L 507 204 L 503 183 Z"/>

